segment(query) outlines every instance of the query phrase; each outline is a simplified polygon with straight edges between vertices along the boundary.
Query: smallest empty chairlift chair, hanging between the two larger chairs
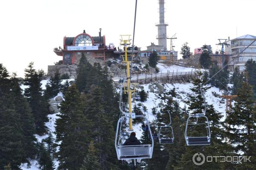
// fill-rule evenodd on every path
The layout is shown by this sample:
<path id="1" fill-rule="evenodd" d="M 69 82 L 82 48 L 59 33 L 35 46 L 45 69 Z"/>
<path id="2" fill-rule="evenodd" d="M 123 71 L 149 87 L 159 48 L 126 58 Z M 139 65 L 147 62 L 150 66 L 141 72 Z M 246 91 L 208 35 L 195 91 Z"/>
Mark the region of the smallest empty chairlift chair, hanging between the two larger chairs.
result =
<path id="1" fill-rule="evenodd" d="M 173 144 L 174 142 L 174 135 L 173 135 L 173 130 L 172 130 L 172 119 L 171 119 L 171 114 L 167 110 L 170 118 L 170 123 L 168 125 L 160 126 L 159 128 L 159 134 L 158 134 L 158 139 L 160 144 Z"/>

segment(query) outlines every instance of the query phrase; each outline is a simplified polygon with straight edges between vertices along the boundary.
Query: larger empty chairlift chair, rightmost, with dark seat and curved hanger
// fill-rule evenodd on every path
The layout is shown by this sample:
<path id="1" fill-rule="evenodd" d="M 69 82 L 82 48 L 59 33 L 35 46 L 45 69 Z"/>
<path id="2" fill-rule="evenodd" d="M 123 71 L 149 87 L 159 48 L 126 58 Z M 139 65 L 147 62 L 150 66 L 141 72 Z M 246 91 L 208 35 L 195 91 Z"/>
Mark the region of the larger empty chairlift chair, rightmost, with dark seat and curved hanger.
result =
<path id="1" fill-rule="evenodd" d="M 205 97 L 204 97 L 204 93 L 202 92 L 202 90 L 201 89 L 199 89 L 199 90 L 204 98 L 204 111 L 203 111 L 203 113 L 191 115 L 187 119 L 186 129 L 185 129 L 185 140 L 186 140 L 187 146 L 210 145 L 211 144 L 211 131 L 210 131 L 210 126 L 209 126 L 209 120 L 208 120 L 207 116 L 204 116 L 206 113 L 206 110 L 207 110 Z M 196 121 L 189 123 L 189 121 L 191 121 L 193 118 L 195 118 Z M 199 129 L 201 129 L 200 126 L 203 126 L 205 128 L 204 134 L 201 133 L 200 135 L 197 135 L 197 136 L 190 136 L 188 133 L 189 126 L 198 127 Z"/>

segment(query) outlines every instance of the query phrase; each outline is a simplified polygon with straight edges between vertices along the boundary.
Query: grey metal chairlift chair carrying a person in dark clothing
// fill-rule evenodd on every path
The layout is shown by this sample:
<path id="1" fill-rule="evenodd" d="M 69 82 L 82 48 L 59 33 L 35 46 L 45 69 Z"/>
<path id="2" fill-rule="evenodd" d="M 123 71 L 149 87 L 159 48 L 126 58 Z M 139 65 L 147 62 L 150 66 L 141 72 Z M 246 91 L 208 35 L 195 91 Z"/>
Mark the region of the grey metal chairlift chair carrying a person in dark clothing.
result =
<path id="1" fill-rule="evenodd" d="M 151 136 L 151 144 L 141 144 L 141 145 L 129 145 L 124 146 L 122 145 L 122 142 L 120 142 L 120 136 L 118 138 L 119 133 L 119 124 L 122 119 L 129 118 L 129 116 L 122 116 L 118 122 L 117 122 L 117 128 L 116 128 L 116 138 L 115 138 L 115 148 L 116 148 L 116 154 L 117 158 L 119 160 L 130 160 L 130 159 L 151 159 L 153 154 L 153 147 L 154 147 L 154 140 L 151 133 L 150 128 L 148 129 L 150 136 Z M 144 116 L 135 116 L 135 118 L 143 118 L 146 119 L 147 125 L 149 127 L 148 119 Z M 122 128 L 122 127 L 120 127 Z M 117 143 L 118 141 L 118 143 Z"/>

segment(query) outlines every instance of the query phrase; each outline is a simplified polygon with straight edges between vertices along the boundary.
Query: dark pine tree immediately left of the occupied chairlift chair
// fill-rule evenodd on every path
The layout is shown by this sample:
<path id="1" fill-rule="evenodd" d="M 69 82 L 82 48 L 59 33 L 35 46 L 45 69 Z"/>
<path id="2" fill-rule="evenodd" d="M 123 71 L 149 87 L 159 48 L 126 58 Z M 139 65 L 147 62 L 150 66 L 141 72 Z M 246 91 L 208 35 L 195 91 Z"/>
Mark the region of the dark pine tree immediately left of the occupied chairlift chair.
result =
<path id="1" fill-rule="evenodd" d="M 99 161 L 103 170 L 114 168 L 113 161 L 109 157 L 113 155 L 114 130 L 112 117 L 105 112 L 102 101 L 101 88 L 92 86 L 91 91 L 86 96 L 85 114 L 92 122 L 89 136 L 94 140 L 94 145 L 99 151 Z M 116 153 L 114 153 L 116 154 Z M 115 160 L 116 161 L 116 160 Z"/>

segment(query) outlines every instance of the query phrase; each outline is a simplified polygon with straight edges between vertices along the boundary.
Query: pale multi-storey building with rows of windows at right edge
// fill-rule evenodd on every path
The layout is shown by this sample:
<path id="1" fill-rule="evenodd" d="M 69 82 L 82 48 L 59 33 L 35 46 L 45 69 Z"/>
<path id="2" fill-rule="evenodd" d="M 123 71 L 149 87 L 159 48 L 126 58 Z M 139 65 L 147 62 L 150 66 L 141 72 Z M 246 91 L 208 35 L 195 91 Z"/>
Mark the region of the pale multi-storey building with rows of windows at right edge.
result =
<path id="1" fill-rule="evenodd" d="M 253 59 L 254 61 L 256 61 L 256 42 L 250 45 L 253 40 L 256 40 L 256 36 L 248 34 L 230 40 L 230 47 L 226 47 L 225 49 L 225 52 L 228 52 L 231 49 L 231 55 L 229 60 L 231 61 L 234 59 L 233 62 L 231 62 L 229 65 L 230 70 L 233 70 L 237 67 L 239 68 L 239 71 L 244 71 L 244 65 L 249 59 Z M 250 47 L 243 51 L 248 45 L 250 45 Z M 237 57 L 238 54 L 239 57 Z"/>

